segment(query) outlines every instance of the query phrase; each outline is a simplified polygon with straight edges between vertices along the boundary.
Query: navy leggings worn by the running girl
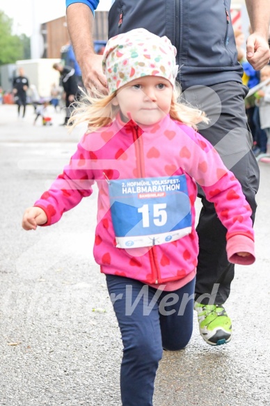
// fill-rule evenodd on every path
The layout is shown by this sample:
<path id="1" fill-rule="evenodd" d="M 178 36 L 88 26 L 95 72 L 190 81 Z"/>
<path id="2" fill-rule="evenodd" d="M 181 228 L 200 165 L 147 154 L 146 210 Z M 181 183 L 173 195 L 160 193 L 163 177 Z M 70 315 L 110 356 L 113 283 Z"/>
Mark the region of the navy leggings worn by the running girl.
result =
<path id="1" fill-rule="evenodd" d="M 163 349 L 181 350 L 191 338 L 195 279 L 173 292 L 116 275 L 106 282 L 124 346 L 122 406 L 152 406 Z"/>

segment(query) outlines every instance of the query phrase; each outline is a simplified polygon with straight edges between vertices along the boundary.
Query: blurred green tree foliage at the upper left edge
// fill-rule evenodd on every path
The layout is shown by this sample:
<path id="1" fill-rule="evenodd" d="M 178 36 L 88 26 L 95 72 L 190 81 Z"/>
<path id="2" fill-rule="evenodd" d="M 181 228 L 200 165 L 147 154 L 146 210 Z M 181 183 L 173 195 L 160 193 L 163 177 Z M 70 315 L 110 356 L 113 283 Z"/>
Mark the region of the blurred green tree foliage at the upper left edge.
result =
<path id="1" fill-rule="evenodd" d="M 12 33 L 13 19 L 0 10 L 0 65 L 30 58 L 30 39 Z"/>

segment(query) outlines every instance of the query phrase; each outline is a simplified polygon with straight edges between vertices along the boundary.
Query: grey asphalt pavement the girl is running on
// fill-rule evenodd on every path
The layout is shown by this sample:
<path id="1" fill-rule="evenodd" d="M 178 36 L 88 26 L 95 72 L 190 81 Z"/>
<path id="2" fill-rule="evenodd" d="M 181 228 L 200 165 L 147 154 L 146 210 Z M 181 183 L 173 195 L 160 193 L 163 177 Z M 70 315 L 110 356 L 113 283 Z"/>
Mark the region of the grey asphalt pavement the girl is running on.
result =
<path id="1" fill-rule="evenodd" d="M 120 332 L 93 259 L 96 190 L 54 226 L 21 227 L 84 132 L 69 134 L 64 114 L 51 116 L 50 127 L 33 126 L 31 106 L 22 121 L 16 106 L 0 105 L 0 405 L 120 406 Z M 164 352 L 154 406 L 270 403 L 270 165 L 260 169 L 257 260 L 236 267 L 225 305 L 232 341 L 207 345 L 194 313 L 186 349 Z"/>

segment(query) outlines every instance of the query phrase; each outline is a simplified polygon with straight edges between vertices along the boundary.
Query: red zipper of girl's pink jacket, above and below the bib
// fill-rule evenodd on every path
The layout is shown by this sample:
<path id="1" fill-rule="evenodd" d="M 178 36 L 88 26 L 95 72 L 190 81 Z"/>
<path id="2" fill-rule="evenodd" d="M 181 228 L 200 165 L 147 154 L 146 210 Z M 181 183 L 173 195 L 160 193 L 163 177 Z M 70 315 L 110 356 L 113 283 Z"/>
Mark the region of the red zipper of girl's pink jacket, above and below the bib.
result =
<path id="1" fill-rule="evenodd" d="M 141 154 L 141 150 L 143 150 L 143 142 L 141 141 L 141 132 L 139 132 L 139 127 L 136 125 L 134 127 L 135 132 L 133 132 L 133 139 L 134 139 L 134 145 L 135 145 L 135 153 L 136 153 L 136 160 L 138 162 L 137 164 L 137 169 L 138 169 L 138 176 L 140 178 L 145 177 L 145 165 L 144 165 L 144 159 L 143 159 L 143 154 Z M 141 130 L 141 129 L 140 129 Z M 150 257 L 150 265 L 151 269 L 154 273 L 154 283 L 159 283 L 159 266 L 157 263 L 157 258 L 154 255 L 154 250 L 155 247 L 154 245 L 151 247 L 151 249 L 148 251 L 149 257 Z"/>

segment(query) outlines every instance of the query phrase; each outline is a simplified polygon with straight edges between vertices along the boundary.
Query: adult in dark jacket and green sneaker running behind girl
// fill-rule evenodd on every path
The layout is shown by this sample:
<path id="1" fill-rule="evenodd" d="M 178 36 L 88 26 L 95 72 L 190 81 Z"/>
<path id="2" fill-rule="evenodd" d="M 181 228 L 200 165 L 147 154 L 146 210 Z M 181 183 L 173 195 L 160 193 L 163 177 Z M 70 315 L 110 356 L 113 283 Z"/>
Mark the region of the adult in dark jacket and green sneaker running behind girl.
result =
<path id="1" fill-rule="evenodd" d="M 67 27 L 85 86 L 106 92 L 102 56 L 95 55 L 93 48 L 93 13 L 98 3 L 98 0 L 66 0 Z M 270 57 L 269 1 L 246 0 L 246 6 L 253 30 L 247 40 L 247 60 L 260 70 Z M 177 79 L 186 100 L 212 118 L 210 127 L 199 127 L 200 133 L 216 147 L 228 169 L 241 182 L 254 220 L 259 169 L 251 151 L 252 137 L 244 107 L 247 88 L 242 84 L 243 71 L 237 62 L 230 0 L 116 0 L 109 12 L 109 38 L 138 27 L 168 36 L 177 48 L 180 66 Z M 212 111 L 217 101 L 218 114 Z M 202 190 L 199 196 L 202 212 L 197 227 L 200 253 L 195 309 L 200 334 L 207 343 L 219 345 L 228 343 L 232 334 L 223 303 L 230 294 L 234 265 L 226 258 L 226 231 L 214 205 L 205 199 Z"/>

